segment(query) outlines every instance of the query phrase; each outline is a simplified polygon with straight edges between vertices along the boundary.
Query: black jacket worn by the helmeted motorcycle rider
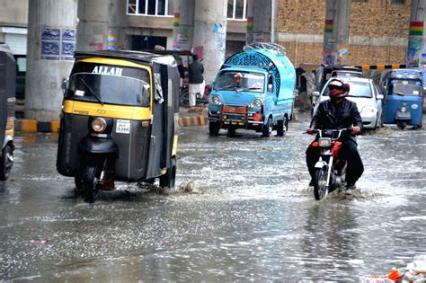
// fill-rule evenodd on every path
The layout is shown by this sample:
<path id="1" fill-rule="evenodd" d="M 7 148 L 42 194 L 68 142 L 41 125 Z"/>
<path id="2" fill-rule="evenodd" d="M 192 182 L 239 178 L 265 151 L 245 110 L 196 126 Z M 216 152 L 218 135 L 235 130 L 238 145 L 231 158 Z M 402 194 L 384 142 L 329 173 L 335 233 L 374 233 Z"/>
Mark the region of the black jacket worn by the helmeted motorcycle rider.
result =
<path id="1" fill-rule="evenodd" d="M 357 103 L 343 99 L 336 108 L 330 100 L 321 102 L 315 111 L 310 128 L 338 129 L 358 126 L 362 131 L 362 119 L 359 114 Z M 342 135 L 342 139 L 350 138 L 356 141 L 352 133 Z"/>

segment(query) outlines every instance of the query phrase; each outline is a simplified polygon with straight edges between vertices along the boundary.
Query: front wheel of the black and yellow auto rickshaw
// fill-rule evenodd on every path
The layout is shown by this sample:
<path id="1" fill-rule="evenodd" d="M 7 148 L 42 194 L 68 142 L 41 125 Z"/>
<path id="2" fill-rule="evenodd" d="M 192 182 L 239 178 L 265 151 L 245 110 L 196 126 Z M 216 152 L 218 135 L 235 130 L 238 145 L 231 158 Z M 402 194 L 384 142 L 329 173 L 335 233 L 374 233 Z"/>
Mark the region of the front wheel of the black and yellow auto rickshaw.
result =
<path id="1" fill-rule="evenodd" d="M 82 198 L 85 202 L 93 203 L 99 194 L 100 165 L 85 164 L 83 169 Z"/>

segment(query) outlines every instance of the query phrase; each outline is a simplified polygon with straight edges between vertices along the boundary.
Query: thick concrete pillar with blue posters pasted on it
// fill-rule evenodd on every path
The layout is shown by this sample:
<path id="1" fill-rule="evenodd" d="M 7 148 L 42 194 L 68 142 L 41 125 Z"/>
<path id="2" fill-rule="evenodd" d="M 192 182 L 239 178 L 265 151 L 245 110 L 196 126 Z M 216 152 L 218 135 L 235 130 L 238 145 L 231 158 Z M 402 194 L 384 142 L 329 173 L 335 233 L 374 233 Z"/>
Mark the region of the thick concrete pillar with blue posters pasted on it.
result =
<path id="1" fill-rule="evenodd" d="M 59 119 L 62 78 L 74 62 L 76 9 L 76 0 L 29 1 L 25 118 Z"/>

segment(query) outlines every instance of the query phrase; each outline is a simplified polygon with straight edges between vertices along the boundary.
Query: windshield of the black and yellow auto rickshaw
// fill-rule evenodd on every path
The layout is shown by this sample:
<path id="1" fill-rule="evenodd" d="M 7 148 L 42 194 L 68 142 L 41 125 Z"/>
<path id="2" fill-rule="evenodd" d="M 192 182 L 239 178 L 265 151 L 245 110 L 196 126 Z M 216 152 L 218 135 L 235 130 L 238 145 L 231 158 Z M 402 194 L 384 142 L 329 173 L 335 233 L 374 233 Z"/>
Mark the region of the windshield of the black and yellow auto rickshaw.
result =
<path id="1" fill-rule="evenodd" d="M 145 85 L 145 88 L 144 88 Z M 76 73 L 71 76 L 66 98 L 84 102 L 149 106 L 146 82 L 129 76 Z"/>

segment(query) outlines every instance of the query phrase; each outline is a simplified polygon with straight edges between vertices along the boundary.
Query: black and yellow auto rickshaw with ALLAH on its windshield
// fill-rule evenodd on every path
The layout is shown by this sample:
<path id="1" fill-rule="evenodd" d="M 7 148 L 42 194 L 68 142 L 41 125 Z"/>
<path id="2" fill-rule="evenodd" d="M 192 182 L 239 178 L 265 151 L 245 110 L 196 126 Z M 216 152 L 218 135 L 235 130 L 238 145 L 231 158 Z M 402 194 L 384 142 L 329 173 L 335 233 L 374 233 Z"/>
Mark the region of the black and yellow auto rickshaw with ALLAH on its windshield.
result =
<path id="1" fill-rule="evenodd" d="M 114 181 L 173 188 L 179 72 L 172 56 L 75 52 L 62 106 L 57 169 L 93 202 Z"/>

